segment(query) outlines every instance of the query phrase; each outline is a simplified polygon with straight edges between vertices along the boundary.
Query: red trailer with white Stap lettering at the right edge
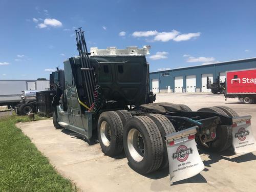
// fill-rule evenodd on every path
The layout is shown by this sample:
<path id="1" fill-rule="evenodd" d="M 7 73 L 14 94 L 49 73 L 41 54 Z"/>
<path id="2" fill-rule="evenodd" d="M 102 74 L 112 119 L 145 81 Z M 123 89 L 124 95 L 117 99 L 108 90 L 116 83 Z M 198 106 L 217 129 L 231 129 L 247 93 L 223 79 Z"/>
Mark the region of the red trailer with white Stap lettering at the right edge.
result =
<path id="1" fill-rule="evenodd" d="M 235 98 L 245 104 L 256 102 L 256 69 L 226 72 L 225 98 Z"/>

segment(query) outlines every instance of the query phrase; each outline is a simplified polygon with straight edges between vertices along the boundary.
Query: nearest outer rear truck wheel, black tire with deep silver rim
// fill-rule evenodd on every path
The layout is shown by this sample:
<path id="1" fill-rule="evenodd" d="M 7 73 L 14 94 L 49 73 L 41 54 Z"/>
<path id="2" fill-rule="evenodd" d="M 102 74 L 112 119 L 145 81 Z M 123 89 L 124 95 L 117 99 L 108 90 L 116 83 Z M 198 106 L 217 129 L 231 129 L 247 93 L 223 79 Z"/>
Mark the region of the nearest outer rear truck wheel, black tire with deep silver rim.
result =
<path id="1" fill-rule="evenodd" d="M 139 174 L 154 172 L 162 164 L 163 140 L 150 117 L 137 116 L 126 122 L 123 148 L 130 167 Z"/>

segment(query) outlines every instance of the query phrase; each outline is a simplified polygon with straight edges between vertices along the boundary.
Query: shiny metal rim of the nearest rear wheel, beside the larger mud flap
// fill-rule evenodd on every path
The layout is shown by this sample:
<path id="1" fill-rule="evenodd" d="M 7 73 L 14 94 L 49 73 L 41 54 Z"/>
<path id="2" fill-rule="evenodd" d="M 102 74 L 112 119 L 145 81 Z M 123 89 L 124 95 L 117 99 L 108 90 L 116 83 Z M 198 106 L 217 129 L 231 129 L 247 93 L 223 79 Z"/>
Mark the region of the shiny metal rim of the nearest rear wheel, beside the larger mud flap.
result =
<path id="1" fill-rule="evenodd" d="M 127 136 L 127 146 L 132 158 L 140 162 L 144 158 L 145 144 L 140 132 L 136 129 L 131 129 Z"/>

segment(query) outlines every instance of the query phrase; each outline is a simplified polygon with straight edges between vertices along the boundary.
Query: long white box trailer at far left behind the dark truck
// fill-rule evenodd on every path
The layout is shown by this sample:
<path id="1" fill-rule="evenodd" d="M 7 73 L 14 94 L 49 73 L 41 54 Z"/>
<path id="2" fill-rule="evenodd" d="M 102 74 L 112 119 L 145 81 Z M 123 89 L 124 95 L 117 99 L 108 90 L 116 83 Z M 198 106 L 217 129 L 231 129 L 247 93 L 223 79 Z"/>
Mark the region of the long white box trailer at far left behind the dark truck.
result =
<path id="1" fill-rule="evenodd" d="M 46 90 L 49 80 L 0 80 L 0 106 L 15 106 L 24 90 Z"/>

